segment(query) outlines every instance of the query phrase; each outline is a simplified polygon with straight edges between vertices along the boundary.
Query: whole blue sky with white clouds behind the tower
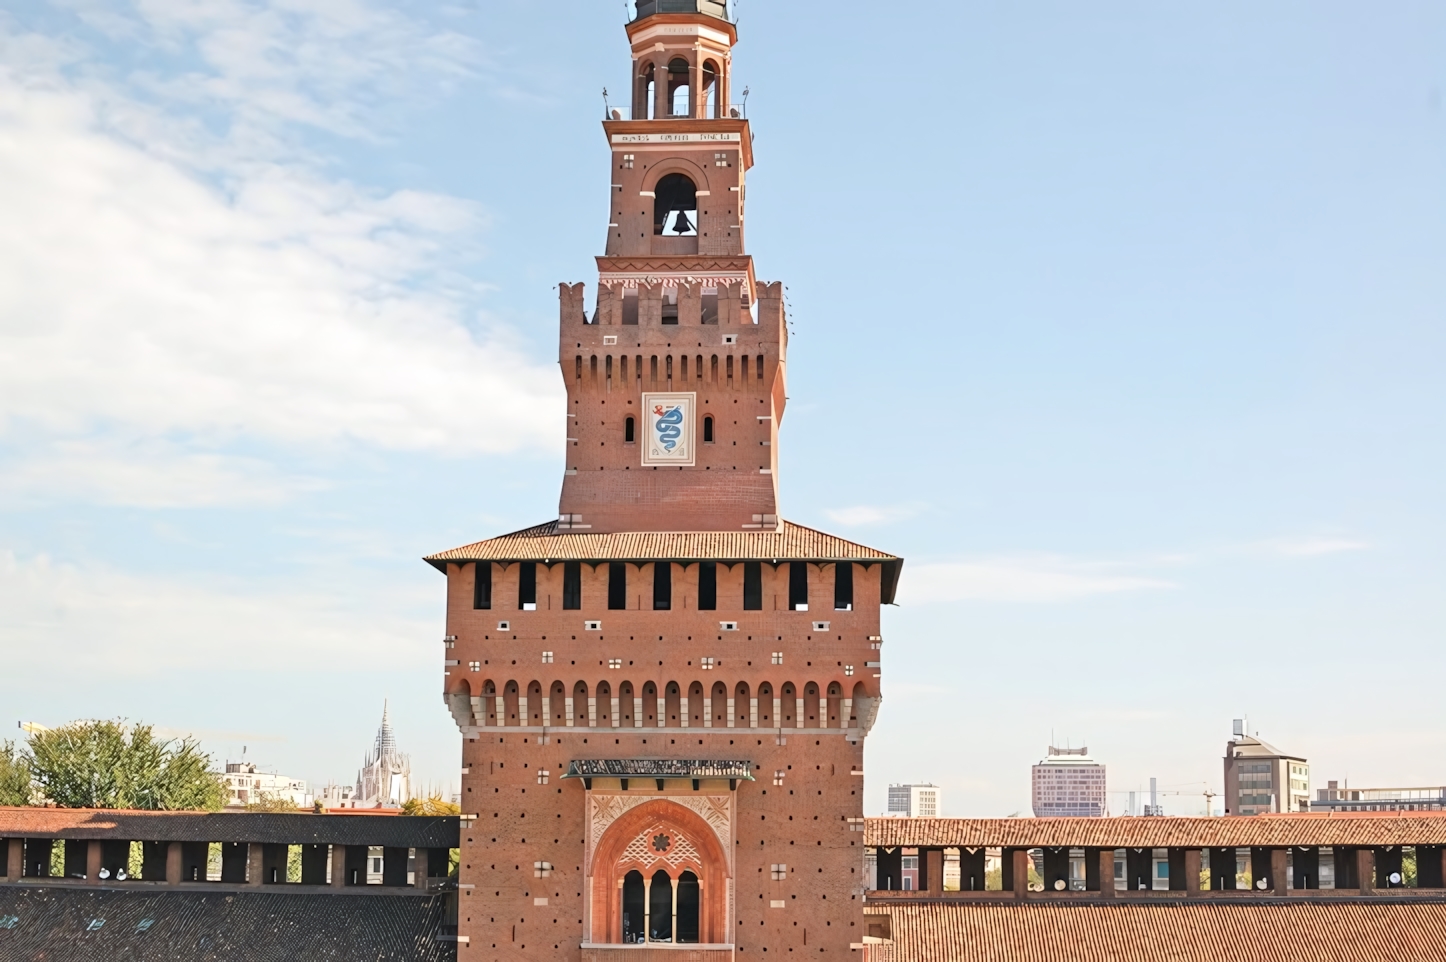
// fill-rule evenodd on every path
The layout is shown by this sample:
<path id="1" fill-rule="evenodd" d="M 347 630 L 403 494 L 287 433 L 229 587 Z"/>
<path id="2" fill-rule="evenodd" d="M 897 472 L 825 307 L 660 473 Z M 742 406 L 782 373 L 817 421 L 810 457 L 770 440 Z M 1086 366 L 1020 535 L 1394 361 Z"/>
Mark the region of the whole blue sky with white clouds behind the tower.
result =
<path id="1" fill-rule="evenodd" d="M 1446 781 L 1446 7 L 740 20 L 782 509 L 908 558 L 868 810 L 1027 812 L 1053 733 L 1197 813 L 1241 715 L 1319 786 Z M 455 781 L 418 558 L 555 515 L 622 22 L 0 12 L 6 718 L 324 783 L 389 697 Z"/>

